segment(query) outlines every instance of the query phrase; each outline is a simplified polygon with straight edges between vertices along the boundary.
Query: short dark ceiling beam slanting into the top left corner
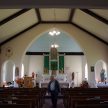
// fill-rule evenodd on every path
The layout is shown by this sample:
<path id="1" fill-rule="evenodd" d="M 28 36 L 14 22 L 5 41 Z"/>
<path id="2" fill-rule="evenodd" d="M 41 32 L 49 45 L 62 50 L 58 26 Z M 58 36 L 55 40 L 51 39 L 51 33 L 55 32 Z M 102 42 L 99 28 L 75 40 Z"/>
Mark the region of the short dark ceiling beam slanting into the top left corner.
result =
<path id="1" fill-rule="evenodd" d="M 23 10 L 21 10 L 21 11 L 15 13 L 15 14 L 9 16 L 8 18 L 6 18 L 6 19 L 0 21 L 0 26 L 3 25 L 3 24 L 5 24 L 5 23 L 7 23 L 8 21 L 10 21 L 10 20 L 12 20 L 12 19 L 18 17 L 19 15 L 22 15 L 23 13 L 25 13 L 25 12 L 27 12 L 27 11 L 29 11 L 29 10 L 30 10 L 30 9 L 23 9 Z"/>

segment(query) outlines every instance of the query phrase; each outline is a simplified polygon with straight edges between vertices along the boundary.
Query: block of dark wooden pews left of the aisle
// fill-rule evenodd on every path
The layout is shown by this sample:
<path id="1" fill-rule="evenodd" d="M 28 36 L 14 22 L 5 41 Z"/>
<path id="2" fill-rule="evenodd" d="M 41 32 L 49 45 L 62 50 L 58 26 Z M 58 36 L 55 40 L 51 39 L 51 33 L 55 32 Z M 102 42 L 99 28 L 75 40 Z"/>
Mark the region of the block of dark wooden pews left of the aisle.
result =
<path id="1" fill-rule="evenodd" d="M 45 88 L 0 88 L 0 108 L 42 108 Z"/>

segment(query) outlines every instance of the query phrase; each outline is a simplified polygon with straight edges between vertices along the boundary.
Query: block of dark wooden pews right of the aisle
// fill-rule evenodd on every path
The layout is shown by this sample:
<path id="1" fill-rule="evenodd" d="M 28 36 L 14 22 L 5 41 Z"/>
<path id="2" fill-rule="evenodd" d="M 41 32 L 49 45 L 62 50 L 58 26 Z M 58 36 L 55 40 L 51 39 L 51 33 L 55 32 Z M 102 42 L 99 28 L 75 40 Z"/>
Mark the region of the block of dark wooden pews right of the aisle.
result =
<path id="1" fill-rule="evenodd" d="M 108 108 L 108 88 L 63 88 L 65 108 Z"/>

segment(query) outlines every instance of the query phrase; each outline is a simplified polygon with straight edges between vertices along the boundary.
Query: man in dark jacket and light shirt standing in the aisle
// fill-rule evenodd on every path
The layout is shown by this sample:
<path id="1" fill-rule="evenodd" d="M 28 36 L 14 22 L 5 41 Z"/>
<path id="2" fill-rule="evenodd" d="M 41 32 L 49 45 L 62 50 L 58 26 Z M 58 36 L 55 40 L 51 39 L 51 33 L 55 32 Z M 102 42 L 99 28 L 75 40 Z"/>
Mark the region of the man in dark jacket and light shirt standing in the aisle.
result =
<path id="1" fill-rule="evenodd" d="M 57 107 L 57 97 L 58 93 L 60 92 L 60 85 L 59 82 L 54 78 L 54 76 L 51 76 L 50 82 L 48 84 L 48 93 L 51 94 L 51 101 L 53 108 Z"/>

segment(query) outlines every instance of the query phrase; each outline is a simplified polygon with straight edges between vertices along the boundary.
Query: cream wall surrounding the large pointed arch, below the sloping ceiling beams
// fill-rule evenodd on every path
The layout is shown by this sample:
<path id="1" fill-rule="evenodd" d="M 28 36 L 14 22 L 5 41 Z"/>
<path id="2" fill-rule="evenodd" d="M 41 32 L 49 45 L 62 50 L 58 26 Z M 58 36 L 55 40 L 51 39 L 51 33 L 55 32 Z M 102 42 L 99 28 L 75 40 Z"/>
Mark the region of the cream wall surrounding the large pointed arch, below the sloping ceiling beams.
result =
<path id="1" fill-rule="evenodd" d="M 15 65 L 21 68 L 23 56 L 29 48 L 29 46 L 37 39 L 42 33 L 53 28 L 53 24 L 39 24 L 31 30 L 21 34 L 17 38 L 9 41 L 1 47 L 1 64 L 6 60 L 11 59 L 15 62 Z M 72 24 L 56 24 L 56 28 L 64 31 L 73 37 L 83 49 L 87 57 L 89 78 L 88 80 L 95 80 L 95 74 L 90 72 L 90 67 L 94 66 L 95 63 L 102 59 L 108 63 L 108 46 L 82 30 L 76 28 Z M 20 45 L 19 45 L 20 44 Z M 6 48 L 13 48 L 13 55 L 8 58 L 6 57 Z"/>

